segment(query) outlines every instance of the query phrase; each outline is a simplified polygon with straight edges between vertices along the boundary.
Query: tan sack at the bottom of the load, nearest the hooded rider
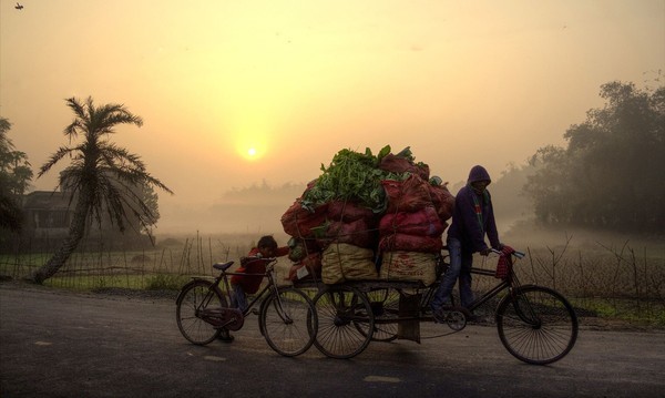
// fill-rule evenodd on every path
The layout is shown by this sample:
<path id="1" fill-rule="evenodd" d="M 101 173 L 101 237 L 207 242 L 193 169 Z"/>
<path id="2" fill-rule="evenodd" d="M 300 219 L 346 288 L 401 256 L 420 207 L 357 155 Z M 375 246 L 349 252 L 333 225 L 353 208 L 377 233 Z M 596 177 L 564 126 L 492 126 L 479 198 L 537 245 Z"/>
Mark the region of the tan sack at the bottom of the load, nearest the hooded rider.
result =
<path id="1" fill-rule="evenodd" d="M 433 253 L 385 252 L 381 279 L 421 280 L 426 286 L 437 279 L 437 261 Z"/>

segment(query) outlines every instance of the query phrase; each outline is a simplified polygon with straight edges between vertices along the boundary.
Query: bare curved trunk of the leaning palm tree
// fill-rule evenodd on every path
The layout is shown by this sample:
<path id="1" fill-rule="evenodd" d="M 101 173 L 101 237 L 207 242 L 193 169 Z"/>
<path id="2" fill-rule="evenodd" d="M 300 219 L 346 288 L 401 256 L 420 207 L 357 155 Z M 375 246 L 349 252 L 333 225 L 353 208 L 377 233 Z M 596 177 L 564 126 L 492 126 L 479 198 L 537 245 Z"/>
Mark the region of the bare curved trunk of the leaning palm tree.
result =
<path id="1" fill-rule="evenodd" d="M 83 197 L 79 198 L 69 235 L 47 264 L 32 274 L 32 282 L 35 284 L 41 285 L 44 280 L 55 275 L 79 246 L 85 234 L 85 222 L 88 220 L 88 210 L 90 208 L 88 202 Z"/>

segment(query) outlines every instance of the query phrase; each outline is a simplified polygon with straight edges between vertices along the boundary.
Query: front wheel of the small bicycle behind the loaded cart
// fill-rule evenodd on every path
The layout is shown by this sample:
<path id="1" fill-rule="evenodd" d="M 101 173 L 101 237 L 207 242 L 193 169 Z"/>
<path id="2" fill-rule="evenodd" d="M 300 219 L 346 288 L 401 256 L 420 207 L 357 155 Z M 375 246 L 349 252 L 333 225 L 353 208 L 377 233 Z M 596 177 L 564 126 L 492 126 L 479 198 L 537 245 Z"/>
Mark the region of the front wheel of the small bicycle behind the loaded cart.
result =
<path id="1" fill-rule="evenodd" d="M 318 326 L 311 299 L 293 287 L 280 287 L 262 303 L 259 325 L 268 345 L 294 357 L 311 347 Z"/>

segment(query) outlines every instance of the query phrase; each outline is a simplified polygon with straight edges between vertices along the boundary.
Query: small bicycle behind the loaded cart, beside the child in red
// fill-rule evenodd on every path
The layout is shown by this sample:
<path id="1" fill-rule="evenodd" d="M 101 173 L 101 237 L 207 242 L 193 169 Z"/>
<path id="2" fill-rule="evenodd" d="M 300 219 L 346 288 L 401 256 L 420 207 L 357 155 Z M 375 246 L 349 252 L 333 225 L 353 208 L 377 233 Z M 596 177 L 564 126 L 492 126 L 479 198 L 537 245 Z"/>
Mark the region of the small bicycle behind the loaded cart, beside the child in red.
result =
<path id="1" fill-rule="evenodd" d="M 176 298 L 177 327 L 195 345 L 207 345 L 228 331 L 237 331 L 249 314 L 255 314 L 257 303 L 258 326 L 262 335 L 275 351 L 293 357 L 300 355 L 316 338 L 318 318 L 313 300 L 294 286 L 278 286 L 275 276 L 277 258 L 256 258 L 266 265 L 263 274 L 234 273 L 228 268 L 233 261 L 213 264 L 219 275 L 194 276 Z M 245 310 L 229 306 L 233 292 L 228 277 L 244 275 L 267 277 L 268 283 L 248 303 Z M 222 287 L 221 287 L 222 284 Z"/>

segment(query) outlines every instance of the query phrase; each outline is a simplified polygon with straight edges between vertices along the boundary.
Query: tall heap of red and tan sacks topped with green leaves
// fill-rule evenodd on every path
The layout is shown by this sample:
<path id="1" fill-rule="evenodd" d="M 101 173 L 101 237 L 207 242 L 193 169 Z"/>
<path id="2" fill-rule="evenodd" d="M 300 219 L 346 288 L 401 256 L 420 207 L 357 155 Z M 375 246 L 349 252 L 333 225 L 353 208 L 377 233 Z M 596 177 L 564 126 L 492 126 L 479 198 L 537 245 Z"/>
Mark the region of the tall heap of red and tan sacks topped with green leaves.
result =
<path id="1" fill-rule="evenodd" d="M 305 247 L 289 278 L 432 283 L 454 198 L 440 180 L 429 181 L 429 166 L 408 147 L 392 154 L 385 146 L 377 156 L 339 151 L 321 170 L 282 216 L 285 233 Z"/>

